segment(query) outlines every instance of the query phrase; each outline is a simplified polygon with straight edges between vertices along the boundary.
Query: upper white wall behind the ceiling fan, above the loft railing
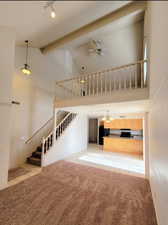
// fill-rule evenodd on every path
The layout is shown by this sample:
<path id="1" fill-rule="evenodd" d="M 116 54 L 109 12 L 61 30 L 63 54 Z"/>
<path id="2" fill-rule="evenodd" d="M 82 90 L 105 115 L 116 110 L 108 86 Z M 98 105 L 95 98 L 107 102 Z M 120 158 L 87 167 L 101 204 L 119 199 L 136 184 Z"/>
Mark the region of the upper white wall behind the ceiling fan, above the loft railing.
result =
<path id="1" fill-rule="evenodd" d="M 143 21 L 109 30 L 101 37 L 96 35 L 95 39 L 102 41 L 103 56 L 89 55 L 87 45 L 71 50 L 76 65 L 79 69 L 84 65 L 86 73 L 136 62 L 143 56 Z"/>

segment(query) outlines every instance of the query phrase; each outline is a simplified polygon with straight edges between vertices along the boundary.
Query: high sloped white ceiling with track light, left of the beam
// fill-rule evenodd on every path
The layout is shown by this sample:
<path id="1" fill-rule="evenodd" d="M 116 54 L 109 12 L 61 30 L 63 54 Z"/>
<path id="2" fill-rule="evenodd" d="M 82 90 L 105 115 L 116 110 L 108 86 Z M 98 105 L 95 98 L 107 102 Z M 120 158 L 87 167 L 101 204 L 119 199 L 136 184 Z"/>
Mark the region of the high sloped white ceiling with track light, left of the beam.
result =
<path id="1" fill-rule="evenodd" d="M 46 1 L 1 1 L 0 26 L 16 30 L 16 43 L 34 47 L 49 42 L 128 4 L 128 1 L 55 1 L 56 18 L 44 10 Z"/>

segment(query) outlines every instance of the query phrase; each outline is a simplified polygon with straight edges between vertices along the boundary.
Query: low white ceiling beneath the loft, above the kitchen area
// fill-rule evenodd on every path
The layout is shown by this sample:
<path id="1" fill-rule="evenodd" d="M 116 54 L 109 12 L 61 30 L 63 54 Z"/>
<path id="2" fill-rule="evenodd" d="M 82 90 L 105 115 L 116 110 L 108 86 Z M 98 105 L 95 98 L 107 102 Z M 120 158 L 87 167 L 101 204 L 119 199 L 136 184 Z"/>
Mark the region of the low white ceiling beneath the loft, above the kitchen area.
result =
<path id="1" fill-rule="evenodd" d="M 99 118 L 104 116 L 109 111 L 110 116 L 119 118 L 119 116 L 126 116 L 127 118 L 142 118 L 145 112 L 150 110 L 149 100 L 109 103 L 99 105 L 86 105 L 68 107 L 65 110 L 85 114 L 91 118 Z"/>

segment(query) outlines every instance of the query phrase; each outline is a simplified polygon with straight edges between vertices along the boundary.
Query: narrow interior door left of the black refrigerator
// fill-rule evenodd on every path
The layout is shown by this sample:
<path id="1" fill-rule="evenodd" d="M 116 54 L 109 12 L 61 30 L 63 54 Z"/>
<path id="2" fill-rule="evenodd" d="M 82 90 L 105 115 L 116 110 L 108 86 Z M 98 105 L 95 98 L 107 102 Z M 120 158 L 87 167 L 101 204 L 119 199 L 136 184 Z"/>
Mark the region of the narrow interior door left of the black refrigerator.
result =
<path id="1" fill-rule="evenodd" d="M 98 120 L 89 119 L 89 143 L 97 143 Z"/>

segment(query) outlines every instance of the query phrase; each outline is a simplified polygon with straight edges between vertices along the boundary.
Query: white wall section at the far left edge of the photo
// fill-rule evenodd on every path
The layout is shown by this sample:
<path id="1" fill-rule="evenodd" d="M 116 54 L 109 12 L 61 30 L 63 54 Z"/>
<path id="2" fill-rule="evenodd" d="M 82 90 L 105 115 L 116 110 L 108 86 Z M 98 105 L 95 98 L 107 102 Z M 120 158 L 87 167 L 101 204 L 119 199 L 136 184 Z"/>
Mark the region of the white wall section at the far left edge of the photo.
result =
<path id="1" fill-rule="evenodd" d="M 15 32 L 0 27 L 0 189 L 7 185 Z"/>

